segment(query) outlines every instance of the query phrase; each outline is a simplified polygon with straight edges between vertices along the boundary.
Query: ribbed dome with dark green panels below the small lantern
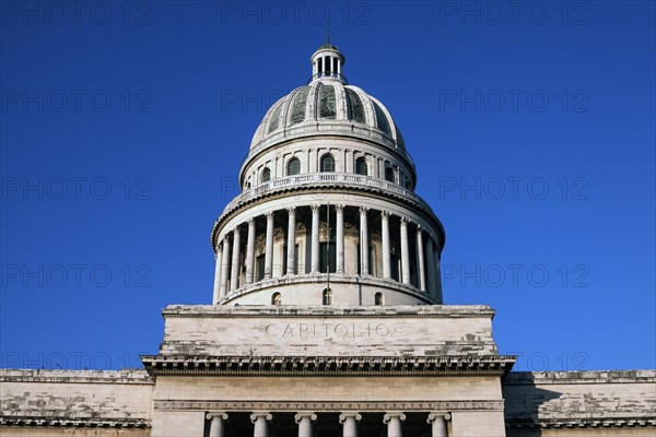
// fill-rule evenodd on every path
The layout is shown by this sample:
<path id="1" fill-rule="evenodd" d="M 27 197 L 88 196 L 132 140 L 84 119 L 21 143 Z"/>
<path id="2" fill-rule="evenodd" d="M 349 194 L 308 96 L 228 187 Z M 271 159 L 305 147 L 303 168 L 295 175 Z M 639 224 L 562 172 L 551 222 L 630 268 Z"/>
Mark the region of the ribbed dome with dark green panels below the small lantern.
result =
<path id="1" fill-rule="evenodd" d="M 330 130 L 343 134 L 344 126 L 351 130 L 364 128 L 376 131 L 389 145 L 406 149 L 399 128 L 380 102 L 332 78 L 314 80 L 276 102 L 255 132 L 250 149 L 281 133 L 292 133 L 290 130 L 307 132 L 308 126 L 323 134 Z"/>

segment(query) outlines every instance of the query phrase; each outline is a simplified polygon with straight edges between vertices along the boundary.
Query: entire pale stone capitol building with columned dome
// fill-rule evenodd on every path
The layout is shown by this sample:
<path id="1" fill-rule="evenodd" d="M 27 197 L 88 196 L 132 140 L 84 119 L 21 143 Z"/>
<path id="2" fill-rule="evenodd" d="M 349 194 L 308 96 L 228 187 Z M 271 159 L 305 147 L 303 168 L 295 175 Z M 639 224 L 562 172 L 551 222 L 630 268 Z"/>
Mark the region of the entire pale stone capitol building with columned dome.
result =
<path id="1" fill-rule="evenodd" d="M 336 46 L 309 61 L 211 229 L 211 305 L 163 309 L 143 369 L 0 370 L 0 436 L 656 435 L 656 371 L 512 373 L 494 310 L 443 304 L 422 145 Z"/>

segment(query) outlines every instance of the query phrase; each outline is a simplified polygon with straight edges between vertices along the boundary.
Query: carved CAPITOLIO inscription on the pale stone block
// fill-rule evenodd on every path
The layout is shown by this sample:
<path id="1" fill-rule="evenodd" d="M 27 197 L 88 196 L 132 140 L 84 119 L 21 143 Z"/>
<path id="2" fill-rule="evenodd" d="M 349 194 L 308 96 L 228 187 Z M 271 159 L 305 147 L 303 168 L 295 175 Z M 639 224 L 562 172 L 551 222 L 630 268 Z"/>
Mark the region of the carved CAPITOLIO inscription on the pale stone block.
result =
<path id="1" fill-rule="evenodd" d="M 371 339 L 391 335 L 386 323 L 269 323 L 269 336 L 283 339 Z"/>

